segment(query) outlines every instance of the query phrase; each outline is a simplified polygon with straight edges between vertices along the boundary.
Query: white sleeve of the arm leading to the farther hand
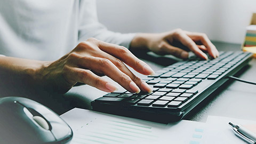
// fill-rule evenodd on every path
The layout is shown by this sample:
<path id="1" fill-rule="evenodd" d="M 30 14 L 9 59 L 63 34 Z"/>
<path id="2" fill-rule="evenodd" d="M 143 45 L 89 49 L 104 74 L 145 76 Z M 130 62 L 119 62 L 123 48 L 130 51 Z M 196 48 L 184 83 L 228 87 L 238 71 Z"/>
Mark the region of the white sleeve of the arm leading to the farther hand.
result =
<path id="1" fill-rule="evenodd" d="M 129 48 L 134 36 L 134 33 L 121 34 L 109 31 L 98 21 L 95 0 L 80 1 L 78 29 L 79 42 L 94 37 L 104 42 L 118 44 Z"/>

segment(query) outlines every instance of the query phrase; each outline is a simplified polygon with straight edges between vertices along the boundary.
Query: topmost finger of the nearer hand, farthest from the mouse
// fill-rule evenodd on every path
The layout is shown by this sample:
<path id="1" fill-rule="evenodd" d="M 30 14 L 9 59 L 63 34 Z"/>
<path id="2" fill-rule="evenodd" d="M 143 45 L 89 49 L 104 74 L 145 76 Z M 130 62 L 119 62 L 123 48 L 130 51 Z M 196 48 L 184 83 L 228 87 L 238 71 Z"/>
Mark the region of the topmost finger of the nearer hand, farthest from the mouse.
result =
<path id="1" fill-rule="evenodd" d="M 133 55 L 128 49 L 123 46 L 109 44 L 105 42 L 98 43 L 99 48 L 113 55 L 114 57 L 122 60 L 128 66 L 132 67 L 134 70 L 138 71 L 143 75 L 154 75 L 153 69 L 151 69 L 145 62 L 139 60 L 135 55 Z"/>

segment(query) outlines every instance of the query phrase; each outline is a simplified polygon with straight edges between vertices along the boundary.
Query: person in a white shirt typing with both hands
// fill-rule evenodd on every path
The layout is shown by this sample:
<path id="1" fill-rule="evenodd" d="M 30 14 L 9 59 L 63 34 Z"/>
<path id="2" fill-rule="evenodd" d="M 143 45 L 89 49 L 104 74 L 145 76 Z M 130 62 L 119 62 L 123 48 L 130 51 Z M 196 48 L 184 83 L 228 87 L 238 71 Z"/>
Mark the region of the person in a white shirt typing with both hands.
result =
<path id="1" fill-rule="evenodd" d="M 31 90 L 66 93 L 78 82 L 115 91 L 117 87 L 102 75 L 130 92 L 151 92 L 149 85 L 124 65 L 144 75 L 154 74 L 131 51 L 186 59 L 188 52 L 174 46 L 179 42 L 202 59 L 207 59 L 203 51 L 213 58 L 219 56 L 202 33 L 181 29 L 158 34 L 109 31 L 98 22 L 93 0 L 1 1 L 0 11 L 3 95 L 22 95 Z"/>

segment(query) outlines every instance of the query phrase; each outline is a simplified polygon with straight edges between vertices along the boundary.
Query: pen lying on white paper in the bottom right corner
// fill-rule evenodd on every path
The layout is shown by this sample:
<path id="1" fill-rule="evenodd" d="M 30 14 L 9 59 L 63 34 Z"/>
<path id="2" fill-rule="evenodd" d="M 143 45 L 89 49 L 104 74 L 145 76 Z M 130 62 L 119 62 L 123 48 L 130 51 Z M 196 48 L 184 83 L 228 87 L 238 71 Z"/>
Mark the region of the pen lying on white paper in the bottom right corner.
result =
<path id="1" fill-rule="evenodd" d="M 233 127 L 234 133 L 241 139 L 245 140 L 246 142 L 256 144 L 256 134 L 249 131 L 245 127 L 241 125 L 236 125 L 231 122 L 228 123 Z"/>

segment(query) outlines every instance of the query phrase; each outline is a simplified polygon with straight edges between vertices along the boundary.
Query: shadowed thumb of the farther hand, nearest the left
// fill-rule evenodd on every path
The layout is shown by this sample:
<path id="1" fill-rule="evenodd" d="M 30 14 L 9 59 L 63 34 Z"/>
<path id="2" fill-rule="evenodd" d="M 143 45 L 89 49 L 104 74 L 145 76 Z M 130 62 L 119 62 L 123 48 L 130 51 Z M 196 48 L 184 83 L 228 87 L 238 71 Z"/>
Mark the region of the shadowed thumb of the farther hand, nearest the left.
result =
<path id="1" fill-rule="evenodd" d="M 166 54 L 172 54 L 177 58 L 186 59 L 188 58 L 188 52 L 180 49 L 179 47 L 174 47 L 168 43 L 164 43 L 161 47 L 161 51 Z"/>

